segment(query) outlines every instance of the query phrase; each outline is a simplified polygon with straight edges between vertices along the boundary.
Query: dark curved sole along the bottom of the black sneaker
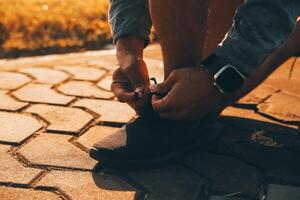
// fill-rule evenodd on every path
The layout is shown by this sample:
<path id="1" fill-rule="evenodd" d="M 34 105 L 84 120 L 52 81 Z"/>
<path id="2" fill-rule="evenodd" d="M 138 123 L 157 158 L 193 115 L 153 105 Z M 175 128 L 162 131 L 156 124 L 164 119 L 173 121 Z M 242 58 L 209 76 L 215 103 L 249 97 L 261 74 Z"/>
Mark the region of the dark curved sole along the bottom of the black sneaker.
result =
<path id="1" fill-rule="evenodd" d="M 208 128 L 205 132 L 209 132 L 206 137 L 199 138 L 198 142 L 186 148 L 176 149 L 168 154 L 162 155 L 158 158 L 151 158 L 146 160 L 124 160 L 124 159 L 113 159 L 101 154 L 101 151 L 92 148 L 89 152 L 91 158 L 103 163 L 103 166 L 114 168 L 114 169 L 145 169 L 159 167 L 172 161 L 175 161 L 193 151 L 204 150 L 211 144 L 221 132 L 221 126 L 215 125 Z M 209 136 L 209 137 L 208 137 Z"/>

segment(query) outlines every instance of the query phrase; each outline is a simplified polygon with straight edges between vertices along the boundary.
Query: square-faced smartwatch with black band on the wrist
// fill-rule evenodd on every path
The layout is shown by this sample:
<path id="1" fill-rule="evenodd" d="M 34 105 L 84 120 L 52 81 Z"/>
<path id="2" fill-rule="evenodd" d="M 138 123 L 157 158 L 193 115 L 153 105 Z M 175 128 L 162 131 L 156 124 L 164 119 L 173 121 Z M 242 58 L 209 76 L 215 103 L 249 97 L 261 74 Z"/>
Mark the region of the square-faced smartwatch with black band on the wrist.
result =
<path id="1" fill-rule="evenodd" d="M 237 92 L 245 82 L 245 76 L 232 64 L 216 54 L 211 54 L 202 63 L 214 79 L 214 85 L 222 94 Z"/>

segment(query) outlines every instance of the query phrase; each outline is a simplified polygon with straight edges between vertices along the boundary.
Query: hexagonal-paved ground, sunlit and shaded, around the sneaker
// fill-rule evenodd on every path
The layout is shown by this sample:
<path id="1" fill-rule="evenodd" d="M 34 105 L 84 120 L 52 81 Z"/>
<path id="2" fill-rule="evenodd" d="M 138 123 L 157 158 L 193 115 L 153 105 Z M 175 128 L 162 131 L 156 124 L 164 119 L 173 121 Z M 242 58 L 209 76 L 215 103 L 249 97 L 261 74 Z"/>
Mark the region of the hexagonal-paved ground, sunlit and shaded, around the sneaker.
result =
<path id="1" fill-rule="evenodd" d="M 147 50 L 161 80 L 157 46 Z M 159 169 L 108 171 L 97 138 L 134 117 L 109 92 L 113 51 L 0 60 L 0 199 L 300 199 L 300 59 L 226 109 L 207 152 Z"/>

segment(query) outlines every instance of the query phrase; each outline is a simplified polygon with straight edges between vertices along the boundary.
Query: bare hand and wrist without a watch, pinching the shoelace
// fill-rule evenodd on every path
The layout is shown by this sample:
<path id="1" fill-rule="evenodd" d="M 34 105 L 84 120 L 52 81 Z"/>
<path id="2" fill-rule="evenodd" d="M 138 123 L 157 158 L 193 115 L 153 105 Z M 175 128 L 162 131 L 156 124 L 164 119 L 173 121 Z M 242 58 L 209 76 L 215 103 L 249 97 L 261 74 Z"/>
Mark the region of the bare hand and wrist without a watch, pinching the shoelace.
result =
<path id="1" fill-rule="evenodd" d="M 111 91 L 120 102 L 128 103 L 139 114 L 145 107 L 145 88 L 149 86 L 149 75 L 143 61 L 144 41 L 134 37 L 117 41 L 118 68 L 113 74 Z"/>

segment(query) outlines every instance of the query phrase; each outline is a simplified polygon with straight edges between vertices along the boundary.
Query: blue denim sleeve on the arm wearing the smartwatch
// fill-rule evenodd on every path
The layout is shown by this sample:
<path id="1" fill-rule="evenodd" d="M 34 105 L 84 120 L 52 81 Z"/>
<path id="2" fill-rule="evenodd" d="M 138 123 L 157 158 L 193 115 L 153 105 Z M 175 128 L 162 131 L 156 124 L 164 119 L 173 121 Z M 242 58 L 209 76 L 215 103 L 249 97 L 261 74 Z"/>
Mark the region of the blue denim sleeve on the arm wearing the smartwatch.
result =
<path id="1" fill-rule="evenodd" d="M 248 0 L 215 53 L 250 76 L 294 29 L 299 0 Z"/>

